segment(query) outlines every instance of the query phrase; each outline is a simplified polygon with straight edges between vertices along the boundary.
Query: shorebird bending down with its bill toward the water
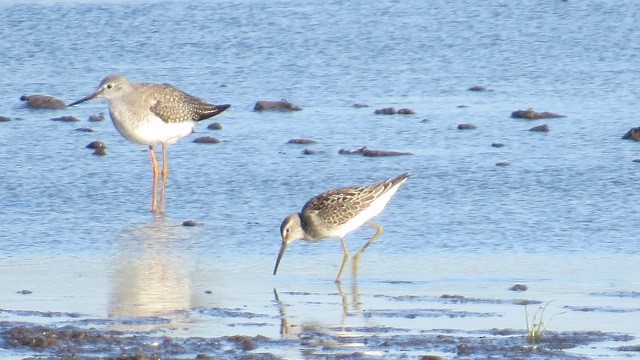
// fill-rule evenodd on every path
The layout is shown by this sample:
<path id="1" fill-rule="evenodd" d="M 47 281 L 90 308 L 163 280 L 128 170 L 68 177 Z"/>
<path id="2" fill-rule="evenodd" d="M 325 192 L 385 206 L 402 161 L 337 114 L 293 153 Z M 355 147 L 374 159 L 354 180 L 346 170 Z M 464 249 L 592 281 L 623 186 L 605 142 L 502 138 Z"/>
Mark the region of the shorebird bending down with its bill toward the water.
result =
<path id="1" fill-rule="evenodd" d="M 400 185 L 407 181 L 408 177 L 409 174 L 405 173 L 377 184 L 329 190 L 311 198 L 301 212 L 287 216 L 280 225 L 282 245 L 276 266 L 273 269 L 273 275 L 278 271 L 280 260 L 292 241 L 302 239 L 308 242 L 317 242 L 337 237 L 342 242 L 344 252 L 342 265 L 336 278 L 336 282 L 340 282 L 345 264 L 349 259 L 349 249 L 344 237 L 365 223 L 376 229 L 376 233 L 356 253 L 355 267 L 362 252 L 382 234 L 382 226 L 372 223 L 370 219 L 382 212 L 391 197 L 398 191 Z"/>

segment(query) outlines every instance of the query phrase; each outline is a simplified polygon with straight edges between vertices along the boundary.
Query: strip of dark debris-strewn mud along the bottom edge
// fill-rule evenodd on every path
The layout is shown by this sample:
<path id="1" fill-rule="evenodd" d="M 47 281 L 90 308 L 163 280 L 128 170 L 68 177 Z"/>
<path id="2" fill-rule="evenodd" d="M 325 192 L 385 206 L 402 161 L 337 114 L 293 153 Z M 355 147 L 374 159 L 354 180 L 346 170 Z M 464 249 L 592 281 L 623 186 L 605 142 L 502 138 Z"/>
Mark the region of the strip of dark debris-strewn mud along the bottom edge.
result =
<path id="1" fill-rule="evenodd" d="M 350 336 L 345 337 L 345 331 Z M 39 359 L 278 359 L 274 352 L 297 348 L 309 359 L 367 359 L 372 356 L 370 351 L 385 358 L 406 358 L 401 355 L 410 351 L 421 356 L 438 352 L 457 359 L 574 360 L 584 357 L 565 350 L 603 341 L 628 342 L 633 339 L 629 335 L 600 331 L 550 331 L 541 342 L 529 344 L 524 330 L 434 329 L 415 334 L 376 326 L 332 330 L 304 327 L 288 339 L 261 335 L 176 338 L 157 331 L 132 333 L 72 325 L 56 327 L 0 322 L 0 347 L 16 353 L 35 354 Z M 361 347 L 354 348 L 357 344 Z M 621 345 L 613 350 L 636 352 L 638 348 Z"/>

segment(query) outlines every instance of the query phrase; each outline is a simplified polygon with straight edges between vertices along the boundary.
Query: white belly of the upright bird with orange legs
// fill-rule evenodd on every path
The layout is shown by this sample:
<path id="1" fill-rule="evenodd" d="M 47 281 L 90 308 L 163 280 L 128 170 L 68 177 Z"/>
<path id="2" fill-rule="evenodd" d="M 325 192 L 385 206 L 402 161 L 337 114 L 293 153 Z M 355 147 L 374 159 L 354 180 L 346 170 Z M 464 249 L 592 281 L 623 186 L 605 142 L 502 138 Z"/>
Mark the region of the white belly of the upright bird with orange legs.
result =
<path id="1" fill-rule="evenodd" d="M 118 132 L 127 140 L 143 145 L 172 144 L 193 132 L 194 122 L 167 123 L 157 116 L 134 120 L 131 114 L 111 113 Z"/>

